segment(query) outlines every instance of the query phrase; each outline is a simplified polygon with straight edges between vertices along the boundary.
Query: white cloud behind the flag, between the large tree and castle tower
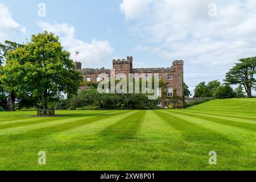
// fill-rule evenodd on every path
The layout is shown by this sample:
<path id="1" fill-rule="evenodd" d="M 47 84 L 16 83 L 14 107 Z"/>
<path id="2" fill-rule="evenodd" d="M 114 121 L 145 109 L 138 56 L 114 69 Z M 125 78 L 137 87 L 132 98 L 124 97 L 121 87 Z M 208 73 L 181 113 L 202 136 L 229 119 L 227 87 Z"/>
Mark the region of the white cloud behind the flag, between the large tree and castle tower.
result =
<path id="1" fill-rule="evenodd" d="M 48 22 L 38 22 L 38 25 L 49 32 L 60 37 L 61 45 L 71 52 L 75 59 L 75 52 L 80 51 L 77 61 L 82 63 L 82 67 L 97 68 L 105 65 L 103 61 L 108 61 L 114 49 L 110 46 L 108 40 L 93 39 L 91 43 L 86 43 L 76 38 L 76 28 L 67 24 L 57 24 Z"/>

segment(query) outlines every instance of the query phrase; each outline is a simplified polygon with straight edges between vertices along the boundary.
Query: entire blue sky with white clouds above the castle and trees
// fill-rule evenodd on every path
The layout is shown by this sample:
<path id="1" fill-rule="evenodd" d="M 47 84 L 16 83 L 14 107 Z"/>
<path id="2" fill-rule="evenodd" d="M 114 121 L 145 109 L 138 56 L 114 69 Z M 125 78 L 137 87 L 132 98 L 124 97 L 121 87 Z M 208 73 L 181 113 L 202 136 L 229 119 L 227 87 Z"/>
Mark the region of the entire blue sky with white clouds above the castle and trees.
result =
<path id="1" fill-rule="evenodd" d="M 38 16 L 39 3 L 46 16 Z M 237 59 L 256 55 L 254 0 L 0 0 L 0 42 L 25 42 L 43 30 L 60 36 L 84 68 L 134 67 L 185 61 L 185 82 L 220 80 Z"/>

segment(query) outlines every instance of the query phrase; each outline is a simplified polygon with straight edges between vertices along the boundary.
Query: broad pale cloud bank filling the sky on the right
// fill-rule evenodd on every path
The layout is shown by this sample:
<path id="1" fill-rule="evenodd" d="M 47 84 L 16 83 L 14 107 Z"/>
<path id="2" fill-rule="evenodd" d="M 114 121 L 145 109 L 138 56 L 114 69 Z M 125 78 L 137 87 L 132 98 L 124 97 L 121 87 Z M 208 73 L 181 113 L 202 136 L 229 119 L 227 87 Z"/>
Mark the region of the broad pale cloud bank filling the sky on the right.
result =
<path id="1" fill-rule="evenodd" d="M 209 16 L 209 4 L 217 16 Z M 185 81 L 193 88 L 200 81 L 225 77 L 241 57 L 256 56 L 255 0 L 123 0 L 121 12 L 139 36 L 137 50 L 185 61 Z M 140 11 L 142 10 L 142 11 Z"/>

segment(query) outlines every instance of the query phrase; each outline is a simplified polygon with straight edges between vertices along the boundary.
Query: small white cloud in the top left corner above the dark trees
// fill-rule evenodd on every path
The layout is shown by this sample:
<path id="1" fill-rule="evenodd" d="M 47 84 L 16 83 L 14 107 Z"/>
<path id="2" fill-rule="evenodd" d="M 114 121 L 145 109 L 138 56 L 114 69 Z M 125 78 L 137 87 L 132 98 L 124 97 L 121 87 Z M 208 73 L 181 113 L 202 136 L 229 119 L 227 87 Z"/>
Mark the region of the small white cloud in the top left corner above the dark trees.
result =
<path id="1" fill-rule="evenodd" d="M 10 38 L 11 34 L 14 33 L 26 33 L 26 27 L 20 26 L 16 22 L 7 9 L 6 6 L 0 3 L 0 42 Z"/>

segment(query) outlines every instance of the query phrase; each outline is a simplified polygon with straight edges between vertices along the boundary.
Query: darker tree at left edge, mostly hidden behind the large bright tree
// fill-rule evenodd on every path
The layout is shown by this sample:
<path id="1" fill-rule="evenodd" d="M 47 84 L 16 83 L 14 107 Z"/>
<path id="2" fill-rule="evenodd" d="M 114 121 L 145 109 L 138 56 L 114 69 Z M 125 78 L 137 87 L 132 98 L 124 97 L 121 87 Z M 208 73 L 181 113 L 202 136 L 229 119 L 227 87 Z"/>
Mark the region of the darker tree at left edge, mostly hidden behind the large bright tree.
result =
<path id="1" fill-rule="evenodd" d="M 22 47 L 23 44 L 18 44 L 15 42 L 11 42 L 6 40 L 5 43 L 0 43 L 0 75 L 2 72 L 2 65 L 6 61 L 6 56 L 9 51 L 14 51 L 18 47 Z M 9 95 L 11 98 L 11 105 L 15 103 L 15 92 L 14 90 L 9 90 L 10 92 L 7 93 L 5 89 L 3 89 L 3 85 L 0 81 L 0 106 L 3 107 L 5 110 L 14 110 L 13 106 L 10 106 L 7 102 L 7 96 Z"/>

